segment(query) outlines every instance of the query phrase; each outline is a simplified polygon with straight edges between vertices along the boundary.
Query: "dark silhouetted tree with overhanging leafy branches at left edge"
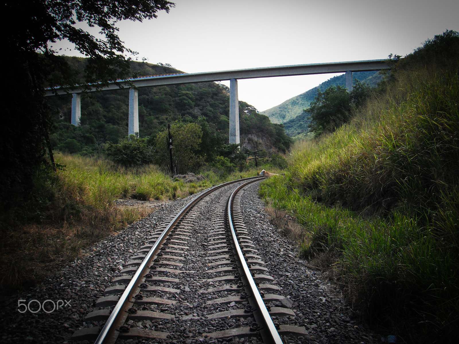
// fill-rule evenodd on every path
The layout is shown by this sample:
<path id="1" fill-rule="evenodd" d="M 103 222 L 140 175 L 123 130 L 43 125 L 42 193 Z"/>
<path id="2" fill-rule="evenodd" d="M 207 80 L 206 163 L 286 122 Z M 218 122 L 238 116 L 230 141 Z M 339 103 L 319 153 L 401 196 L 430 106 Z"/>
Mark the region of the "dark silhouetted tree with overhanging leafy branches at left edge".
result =
<path id="1" fill-rule="evenodd" d="M 45 148 L 52 159 L 49 132 L 53 126 L 44 87 L 72 90 L 101 88 L 110 81 L 129 77 L 129 59 L 134 53 L 118 37 L 120 20 L 156 18 L 157 11 L 174 6 L 166 0 L 6 0 L 2 5 L 4 51 L 11 56 L 4 79 L 0 126 L 0 211 L 14 205 L 32 189 L 32 176 L 45 163 Z M 20 20 L 21 24 L 17 22 Z M 8 22 L 11 21 L 11 22 Z M 98 27 L 104 39 L 77 28 L 78 22 Z M 88 56 L 83 72 L 69 66 L 52 44 L 68 39 Z M 7 201 L 6 201 L 7 200 Z"/>

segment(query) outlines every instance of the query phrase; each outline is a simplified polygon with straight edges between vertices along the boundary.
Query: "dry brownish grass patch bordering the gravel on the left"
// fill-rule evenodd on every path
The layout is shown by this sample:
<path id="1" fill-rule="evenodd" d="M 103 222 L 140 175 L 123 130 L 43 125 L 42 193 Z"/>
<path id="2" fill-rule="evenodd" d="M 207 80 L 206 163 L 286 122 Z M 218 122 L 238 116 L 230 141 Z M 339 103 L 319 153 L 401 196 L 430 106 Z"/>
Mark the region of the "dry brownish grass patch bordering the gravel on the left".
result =
<path id="1" fill-rule="evenodd" d="M 154 210 L 146 205 L 90 208 L 56 223 L 12 227 L 0 239 L 0 292 L 11 294 L 36 283 L 80 256 L 91 244 L 118 233 Z"/>

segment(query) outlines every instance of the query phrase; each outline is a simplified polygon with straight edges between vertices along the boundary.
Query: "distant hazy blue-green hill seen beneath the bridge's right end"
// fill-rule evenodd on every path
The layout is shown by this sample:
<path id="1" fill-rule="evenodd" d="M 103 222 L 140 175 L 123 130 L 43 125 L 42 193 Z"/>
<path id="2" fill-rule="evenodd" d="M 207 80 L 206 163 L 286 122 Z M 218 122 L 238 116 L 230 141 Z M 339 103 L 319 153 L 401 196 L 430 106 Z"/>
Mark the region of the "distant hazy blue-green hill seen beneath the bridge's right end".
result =
<path id="1" fill-rule="evenodd" d="M 355 72 L 353 73 L 353 78 L 361 82 L 368 83 L 372 87 L 375 87 L 376 84 L 382 79 L 378 72 Z M 309 107 L 309 103 L 314 100 L 318 88 L 323 91 L 332 85 L 345 86 L 345 74 L 330 78 L 327 81 L 321 83 L 319 86 L 314 87 L 313 89 L 310 89 L 293 98 L 285 100 L 282 104 L 276 105 L 268 110 L 261 111 L 261 113 L 268 116 L 273 123 L 285 123 L 301 115 L 303 109 Z M 295 130 L 292 130 L 293 131 L 291 131 L 291 133 L 288 133 L 289 136 L 295 135 L 292 134 L 295 132 Z M 287 129 L 285 129 L 285 131 L 288 132 Z"/>

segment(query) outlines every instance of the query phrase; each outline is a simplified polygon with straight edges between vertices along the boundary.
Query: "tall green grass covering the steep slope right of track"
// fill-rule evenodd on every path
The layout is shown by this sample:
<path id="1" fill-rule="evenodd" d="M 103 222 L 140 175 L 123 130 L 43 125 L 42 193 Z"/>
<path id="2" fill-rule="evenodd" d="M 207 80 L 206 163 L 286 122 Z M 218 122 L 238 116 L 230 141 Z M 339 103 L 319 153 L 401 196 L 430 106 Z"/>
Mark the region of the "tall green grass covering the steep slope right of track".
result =
<path id="1" fill-rule="evenodd" d="M 341 277 L 356 308 L 404 340 L 459 324 L 459 78 L 401 75 L 354 120 L 297 143 L 261 192 L 304 227 L 302 254 Z"/>

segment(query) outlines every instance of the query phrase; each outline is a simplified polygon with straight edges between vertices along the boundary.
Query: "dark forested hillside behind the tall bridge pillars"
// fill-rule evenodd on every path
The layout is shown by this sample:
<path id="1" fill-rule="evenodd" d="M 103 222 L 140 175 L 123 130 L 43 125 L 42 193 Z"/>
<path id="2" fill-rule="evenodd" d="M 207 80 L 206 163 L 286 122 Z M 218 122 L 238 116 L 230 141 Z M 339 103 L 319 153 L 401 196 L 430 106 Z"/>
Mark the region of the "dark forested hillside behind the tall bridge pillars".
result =
<path id="1" fill-rule="evenodd" d="M 83 69 L 85 59 L 68 58 Z M 131 61 L 138 76 L 180 72 L 168 65 Z M 81 125 L 70 124 L 71 97 L 52 97 L 56 109 L 56 131 L 51 144 L 64 152 L 95 155 L 104 152 L 105 143 L 117 143 L 128 133 L 129 90 L 93 92 L 82 97 Z M 285 152 L 290 139 L 279 124 L 273 124 L 251 105 L 240 102 L 241 144 L 246 149 Z M 139 89 L 139 132 L 141 138 L 155 137 L 168 123 L 207 122 L 205 133 L 216 144 L 228 144 L 229 89 L 219 83 L 196 83 Z M 202 122 L 202 120 L 201 120 Z M 207 140 L 207 142 L 210 142 Z"/>

